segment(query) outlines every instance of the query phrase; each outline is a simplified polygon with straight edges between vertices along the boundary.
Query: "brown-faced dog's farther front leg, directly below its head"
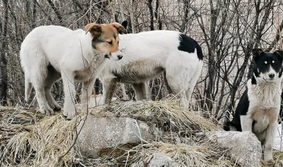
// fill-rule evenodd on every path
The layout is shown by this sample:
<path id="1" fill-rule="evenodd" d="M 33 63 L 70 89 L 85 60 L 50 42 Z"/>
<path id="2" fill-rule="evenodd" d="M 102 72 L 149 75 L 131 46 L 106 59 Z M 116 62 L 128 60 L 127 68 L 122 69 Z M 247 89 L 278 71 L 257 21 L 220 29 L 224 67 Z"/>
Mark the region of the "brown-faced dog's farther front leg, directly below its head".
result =
<path id="1" fill-rule="evenodd" d="M 81 89 L 81 104 L 83 105 L 83 109 L 87 109 L 87 105 L 89 106 L 89 99 L 91 98 L 91 94 L 93 92 L 93 86 L 96 82 L 95 78 L 91 78 L 90 80 L 83 82 L 83 87 Z"/>

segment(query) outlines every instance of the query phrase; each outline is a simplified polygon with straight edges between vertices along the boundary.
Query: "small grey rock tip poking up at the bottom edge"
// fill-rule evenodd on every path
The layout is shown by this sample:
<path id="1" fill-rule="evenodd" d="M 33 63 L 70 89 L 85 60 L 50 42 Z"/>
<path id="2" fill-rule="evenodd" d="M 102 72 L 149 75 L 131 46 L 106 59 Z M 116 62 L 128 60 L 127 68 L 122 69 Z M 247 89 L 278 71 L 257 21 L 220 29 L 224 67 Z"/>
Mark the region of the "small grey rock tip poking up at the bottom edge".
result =
<path id="1" fill-rule="evenodd" d="M 179 167 L 180 165 L 173 161 L 171 157 L 163 152 L 152 154 L 144 161 L 133 163 L 131 167 Z"/>

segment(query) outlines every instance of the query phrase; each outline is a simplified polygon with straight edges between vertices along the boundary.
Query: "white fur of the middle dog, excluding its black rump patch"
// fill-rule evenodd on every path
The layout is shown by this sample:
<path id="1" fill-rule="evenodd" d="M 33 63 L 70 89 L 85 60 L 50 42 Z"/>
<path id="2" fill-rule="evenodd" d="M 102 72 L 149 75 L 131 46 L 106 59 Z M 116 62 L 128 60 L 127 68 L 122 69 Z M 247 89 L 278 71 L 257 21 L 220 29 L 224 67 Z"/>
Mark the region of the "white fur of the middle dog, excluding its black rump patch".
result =
<path id="1" fill-rule="evenodd" d="M 166 79 L 173 94 L 188 107 L 202 72 L 203 61 L 197 58 L 196 49 L 192 54 L 178 50 L 179 35 L 180 32 L 168 30 L 120 35 L 119 51 L 115 54 L 123 58 L 121 61 L 108 61 L 100 77 L 103 82 L 103 101 L 110 101 L 116 82 L 132 84 L 136 99 L 146 99 L 146 82 L 166 70 Z M 116 78 L 114 73 L 123 77 Z"/>

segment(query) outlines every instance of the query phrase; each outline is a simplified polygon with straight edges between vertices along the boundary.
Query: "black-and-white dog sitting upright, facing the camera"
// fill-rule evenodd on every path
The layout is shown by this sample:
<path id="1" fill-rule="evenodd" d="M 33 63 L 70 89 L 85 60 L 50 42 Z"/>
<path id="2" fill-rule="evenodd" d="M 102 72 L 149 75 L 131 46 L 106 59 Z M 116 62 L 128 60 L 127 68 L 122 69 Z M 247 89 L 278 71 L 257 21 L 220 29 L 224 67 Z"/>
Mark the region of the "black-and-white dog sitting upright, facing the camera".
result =
<path id="1" fill-rule="evenodd" d="M 272 160 L 272 148 L 281 105 L 283 51 L 253 49 L 253 77 L 248 80 L 233 120 L 224 130 L 252 131 L 262 144 L 263 159 Z"/>

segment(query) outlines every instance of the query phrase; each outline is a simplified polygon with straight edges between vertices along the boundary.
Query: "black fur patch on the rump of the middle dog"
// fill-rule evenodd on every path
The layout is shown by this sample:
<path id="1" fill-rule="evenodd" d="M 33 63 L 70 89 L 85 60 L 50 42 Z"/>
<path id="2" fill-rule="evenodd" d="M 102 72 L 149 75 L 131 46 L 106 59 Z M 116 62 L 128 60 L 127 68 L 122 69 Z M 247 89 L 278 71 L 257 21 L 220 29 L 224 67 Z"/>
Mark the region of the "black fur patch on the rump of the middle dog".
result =
<path id="1" fill-rule="evenodd" d="M 199 44 L 197 44 L 194 39 L 192 39 L 191 37 L 187 37 L 187 35 L 185 34 L 180 33 L 179 40 L 180 45 L 178 49 L 180 51 L 186 51 L 187 53 L 192 54 L 195 52 L 195 49 L 197 49 L 197 58 L 199 58 L 200 60 L 203 59 L 202 48 Z"/>

